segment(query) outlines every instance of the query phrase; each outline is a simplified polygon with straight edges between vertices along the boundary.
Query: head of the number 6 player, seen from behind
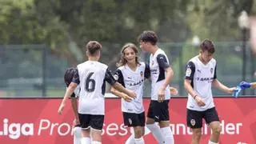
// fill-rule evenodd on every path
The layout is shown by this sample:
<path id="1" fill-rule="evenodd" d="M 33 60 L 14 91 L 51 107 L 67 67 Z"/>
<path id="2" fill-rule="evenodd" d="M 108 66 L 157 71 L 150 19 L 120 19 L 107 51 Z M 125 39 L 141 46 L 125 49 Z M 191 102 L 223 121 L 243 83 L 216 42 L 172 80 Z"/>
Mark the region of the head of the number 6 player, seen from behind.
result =
<path id="1" fill-rule="evenodd" d="M 97 41 L 90 41 L 86 44 L 87 57 L 100 57 L 102 45 Z"/>

